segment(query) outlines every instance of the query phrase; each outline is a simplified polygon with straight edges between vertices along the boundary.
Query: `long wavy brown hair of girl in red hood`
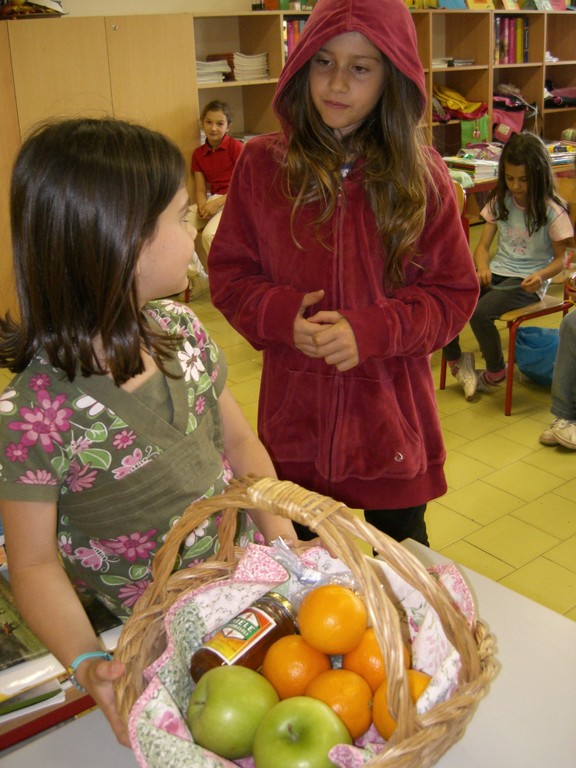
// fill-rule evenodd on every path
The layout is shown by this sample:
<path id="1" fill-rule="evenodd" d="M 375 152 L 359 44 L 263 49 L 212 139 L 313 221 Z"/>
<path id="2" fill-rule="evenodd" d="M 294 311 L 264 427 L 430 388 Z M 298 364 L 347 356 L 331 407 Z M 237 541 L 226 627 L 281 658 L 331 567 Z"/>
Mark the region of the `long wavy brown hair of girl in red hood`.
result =
<path id="1" fill-rule="evenodd" d="M 310 62 L 289 81 L 277 106 L 290 124 L 283 166 L 286 194 L 293 201 L 293 232 L 297 209 L 304 203 L 322 202 L 318 226 L 331 218 L 342 183 L 341 167 L 346 159 L 360 160 L 362 183 L 382 243 L 385 283 L 393 288 L 403 282 L 403 263 L 424 228 L 427 205 L 440 201 L 426 153 L 420 90 L 389 59 L 382 58 L 382 98 L 342 140 L 314 107 L 308 85 Z"/>

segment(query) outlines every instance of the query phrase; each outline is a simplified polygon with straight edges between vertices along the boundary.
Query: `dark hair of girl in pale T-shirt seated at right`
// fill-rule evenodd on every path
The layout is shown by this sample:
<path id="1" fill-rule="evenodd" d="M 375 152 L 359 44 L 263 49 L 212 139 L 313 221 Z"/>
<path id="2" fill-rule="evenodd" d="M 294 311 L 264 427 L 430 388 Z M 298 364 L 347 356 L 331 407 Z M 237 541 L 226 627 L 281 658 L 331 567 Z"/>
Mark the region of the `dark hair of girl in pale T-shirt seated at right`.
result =
<path id="1" fill-rule="evenodd" d="M 533 133 L 515 133 L 504 145 L 498 164 L 498 182 L 487 199 L 493 207 L 496 219 L 508 219 L 506 164 L 523 165 L 526 169 L 528 199 L 524 221 L 529 235 L 533 235 L 548 223 L 549 200 L 554 200 L 568 210 L 556 193 L 550 155 L 544 142 Z"/>

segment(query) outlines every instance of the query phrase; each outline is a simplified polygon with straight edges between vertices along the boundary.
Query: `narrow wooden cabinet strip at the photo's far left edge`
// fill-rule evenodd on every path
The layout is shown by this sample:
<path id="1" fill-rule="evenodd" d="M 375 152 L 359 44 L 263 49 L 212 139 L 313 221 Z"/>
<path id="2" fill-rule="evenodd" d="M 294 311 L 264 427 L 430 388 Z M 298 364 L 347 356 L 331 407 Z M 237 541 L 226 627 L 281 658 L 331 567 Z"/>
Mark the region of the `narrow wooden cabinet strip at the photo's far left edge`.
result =
<path id="1" fill-rule="evenodd" d="M 0 313 L 16 309 L 10 245 L 10 176 L 20 146 L 8 25 L 0 22 Z"/>

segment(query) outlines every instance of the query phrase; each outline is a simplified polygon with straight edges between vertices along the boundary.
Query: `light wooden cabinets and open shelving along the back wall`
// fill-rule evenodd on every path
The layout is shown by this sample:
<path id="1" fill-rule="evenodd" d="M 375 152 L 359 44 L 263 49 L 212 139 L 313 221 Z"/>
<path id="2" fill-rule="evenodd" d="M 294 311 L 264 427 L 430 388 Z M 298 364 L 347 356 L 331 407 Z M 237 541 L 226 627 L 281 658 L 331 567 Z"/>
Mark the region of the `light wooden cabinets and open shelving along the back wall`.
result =
<path id="1" fill-rule="evenodd" d="M 571 11 L 412 10 L 429 96 L 428 138 L 443 155 L 461 145 L 461 123 L 433 123 L 432 93 L 444 85 L 488 104 L 503 83 L 516 85 L 538 107 L 525 125 L 553 141 L 576 126 L 576 107 L 545 108 L 544 84 L 576 87 L 576 13 Z M 278 129 L 272 100 L 286 58 L 288 22 L 309 11 L 274 10 L 66 16 L 0 21 L 0 310 L 14 306 L 8 235 L 10 167 L 22 137 L 51 117 L 114 114 L 168 134 L 187 162 L 200 142 L 198 115 L 208 101 L 230 103 L 236 134 Z M 495 60 L 496 19 L 528 20 L 527 61 Z M 197 82 L 196 60 L 224 52 L 266 53 L 268 77 Z M 546 59 L 546 51 L 554 61 Z M 433 66 L 439 58 L 474 59 L 467 66 Z M 58 72 L 58 77 L 54 77 Z M 489 133 L 489 138 L 491 137 Z M 2 192 L 4 190 L 4 192 Z"/>

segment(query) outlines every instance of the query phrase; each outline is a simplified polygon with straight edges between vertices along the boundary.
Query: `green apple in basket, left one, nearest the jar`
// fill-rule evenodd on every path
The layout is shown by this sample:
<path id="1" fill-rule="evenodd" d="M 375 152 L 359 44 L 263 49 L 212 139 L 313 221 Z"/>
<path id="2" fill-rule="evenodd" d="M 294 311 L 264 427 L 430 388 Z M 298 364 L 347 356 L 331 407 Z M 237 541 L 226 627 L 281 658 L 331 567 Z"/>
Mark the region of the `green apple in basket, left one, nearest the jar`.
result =
<path id="1" fill-rule="evenodd" d="M 215 667 L 192 691 L 188 726 L 201 747 L 229 760 L 252 754 L 254 734 L 278 694 L 265 677 L 239 666 Z"/>

